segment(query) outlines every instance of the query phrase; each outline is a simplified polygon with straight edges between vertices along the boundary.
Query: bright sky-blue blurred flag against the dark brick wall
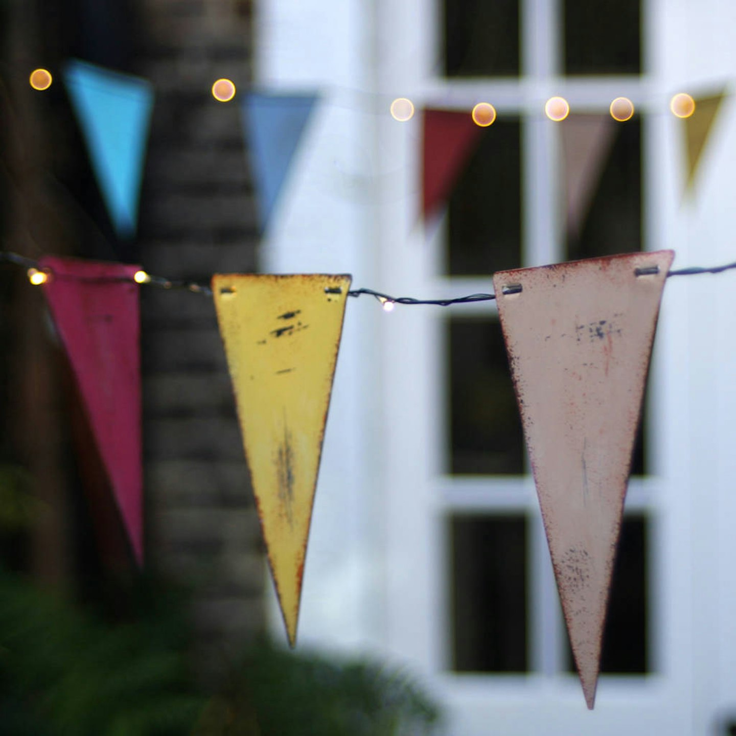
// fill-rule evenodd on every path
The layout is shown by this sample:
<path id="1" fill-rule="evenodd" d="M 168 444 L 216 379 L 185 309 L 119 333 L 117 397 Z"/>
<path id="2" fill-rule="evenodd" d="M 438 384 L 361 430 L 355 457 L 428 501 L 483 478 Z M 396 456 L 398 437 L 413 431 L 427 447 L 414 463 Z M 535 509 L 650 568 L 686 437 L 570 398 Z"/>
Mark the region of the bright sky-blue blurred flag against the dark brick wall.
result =
<path id="1" fill-rule="evenodd" d="M 66 65 L 64 81 L 107 211 L 118 236 L 130 238 L 138 225 L 152 86 L 77 59 Z"/>

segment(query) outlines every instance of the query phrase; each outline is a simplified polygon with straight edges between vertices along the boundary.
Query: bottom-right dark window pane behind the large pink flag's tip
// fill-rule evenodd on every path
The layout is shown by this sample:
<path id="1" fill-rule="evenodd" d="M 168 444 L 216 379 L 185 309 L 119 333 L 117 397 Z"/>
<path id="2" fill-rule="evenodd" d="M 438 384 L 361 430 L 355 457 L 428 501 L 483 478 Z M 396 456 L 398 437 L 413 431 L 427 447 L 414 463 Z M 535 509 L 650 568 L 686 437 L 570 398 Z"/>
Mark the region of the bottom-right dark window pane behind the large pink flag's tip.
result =
<path id="1" fill-rule="evenodd" d="M 644 517 L 624 517 L 604 631 L 601 672 L 644 674 L 649 671 L 647 537 Z M 569 645 L 567 657 L 567 668 L 572 672 L 575 668 Z"/>

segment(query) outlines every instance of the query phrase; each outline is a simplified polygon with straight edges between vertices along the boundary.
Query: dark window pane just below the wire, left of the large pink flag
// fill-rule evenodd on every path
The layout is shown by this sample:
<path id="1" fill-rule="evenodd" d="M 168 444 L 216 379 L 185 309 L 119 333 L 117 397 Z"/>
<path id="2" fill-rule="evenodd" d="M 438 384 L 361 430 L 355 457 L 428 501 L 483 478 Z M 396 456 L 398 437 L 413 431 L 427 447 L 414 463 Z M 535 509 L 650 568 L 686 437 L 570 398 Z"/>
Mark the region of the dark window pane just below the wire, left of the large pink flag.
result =
<path id="1" fill-rule="evenodd" d="M 524 442 L 498 320 L 450 319 L 450 472 L 524 472 Z"/>

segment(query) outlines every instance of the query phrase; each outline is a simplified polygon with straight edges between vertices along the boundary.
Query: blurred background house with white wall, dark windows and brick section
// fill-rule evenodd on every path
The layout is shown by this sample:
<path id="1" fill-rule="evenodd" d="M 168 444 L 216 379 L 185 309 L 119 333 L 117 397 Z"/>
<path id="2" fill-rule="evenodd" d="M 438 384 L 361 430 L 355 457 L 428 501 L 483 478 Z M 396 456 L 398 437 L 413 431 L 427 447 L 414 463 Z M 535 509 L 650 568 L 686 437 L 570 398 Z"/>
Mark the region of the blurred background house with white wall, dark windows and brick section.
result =
<path id="1" fill-rule="evenodd" d="M 5 57 L 23 72 L 20 117 L 3 116 L 4 157 L 15 162 L 3 184 L 12 250 L 138 259 L 171 277 L 347 272 L 355 286 L 415 297 L 492 291 L 500 269 L 634 250 L 671 248 L 681 267 L 734 261 L 727 0 L 63 5 L 5 3 Z M 48 98 L 20 91 L 26 68 L 70 55 L 155 87 L 133 244 L 116 243 L 105 224 L 62 88 Z M 319 95 L 262 236 L 237 107 L 208 98 L 218 77 L 241 91 Z M 669 107 L 679 92 L 724 95 L 689 185 L 684 122 Z M 618 96 L 636 107 L 612 128 L 576 227 L 564 124 L 543 112 L 553 95 L 570 103 L 570 121 L 594 124 Z M 399 97 L 417 110 L 406 122 L 389 114 Z M 498 120 L 447 206 L 425 219 L 422 109 L 470 113 L 477 102 L 491 102 Z M 486 302 L 391 314 L 367 297 L 347 305 L 299 645 L 406 666 L 445 708 L 453 736 L 736 732 L 732 279 L 673 278 L 665 288 L 594 712 L 570 660 Z M 8 289 L 4 366 L 20 388 L 5 401 L 22 409 L 4 412 L 14 417 L 6 436 L 18 438 L 14 452 L 44 498 L 65 509 L 30 539 L 28 564 L 78 575 L 100 564 L 79 530 L 99 527 L 84 526 L 73 484 L 60 486 L 54 470 L 68 458 L 59 396 L 70 400 L 69 389 L 39 368 L 52 347 L 24 327 L 32 310 L 40 320 L 40 297 Z M 150 559 L 197 583 L 205 642 L 263 626 L 283 637 L 212 305 L 151 290 L 143 303 Z M 94 469 L 74 473 L 94 486 Z"/>

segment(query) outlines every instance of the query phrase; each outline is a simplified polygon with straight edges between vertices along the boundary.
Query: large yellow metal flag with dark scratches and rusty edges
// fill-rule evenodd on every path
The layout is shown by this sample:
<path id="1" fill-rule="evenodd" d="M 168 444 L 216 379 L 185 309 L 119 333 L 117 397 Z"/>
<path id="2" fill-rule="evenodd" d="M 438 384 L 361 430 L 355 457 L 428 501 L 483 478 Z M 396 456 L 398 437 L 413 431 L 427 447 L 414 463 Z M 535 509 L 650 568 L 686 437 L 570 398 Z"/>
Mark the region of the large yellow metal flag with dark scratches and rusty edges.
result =
<path id="1" fill-rule="evenodd" d="M 289 643 L 350 276 L 213 276 L 247 465 Z"/>

